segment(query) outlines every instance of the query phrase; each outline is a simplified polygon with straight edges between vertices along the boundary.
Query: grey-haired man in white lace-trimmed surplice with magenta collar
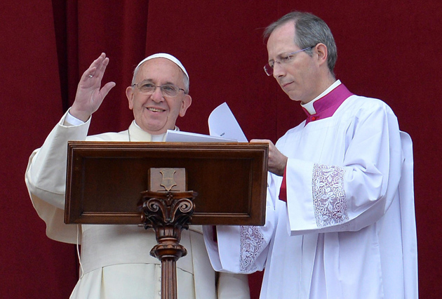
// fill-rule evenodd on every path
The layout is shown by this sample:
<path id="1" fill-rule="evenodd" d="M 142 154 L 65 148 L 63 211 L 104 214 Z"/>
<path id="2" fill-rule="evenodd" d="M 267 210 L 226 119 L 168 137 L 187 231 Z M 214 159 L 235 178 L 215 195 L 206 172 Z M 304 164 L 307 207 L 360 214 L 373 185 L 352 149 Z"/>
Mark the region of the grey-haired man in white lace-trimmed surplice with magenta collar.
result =
<path id="1" fill-rule="evenodd" d="M 267 75 L 307 119 L 269 143 L 264 227 L 204 227 L 217 271 L 264 270 L 260 298 L 417 298 L 411 140 L 381 100 L 333 69 L 323 20 L 293 12 L 267 27 Z"/>

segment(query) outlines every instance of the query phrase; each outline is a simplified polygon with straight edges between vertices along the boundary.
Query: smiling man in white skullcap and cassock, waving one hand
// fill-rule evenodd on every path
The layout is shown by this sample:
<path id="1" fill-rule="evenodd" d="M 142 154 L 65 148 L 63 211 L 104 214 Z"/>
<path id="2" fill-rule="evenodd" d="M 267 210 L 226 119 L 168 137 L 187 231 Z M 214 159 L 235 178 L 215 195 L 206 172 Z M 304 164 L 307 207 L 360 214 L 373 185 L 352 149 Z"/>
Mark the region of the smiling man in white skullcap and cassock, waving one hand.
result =
<path id="1" fill-rule="evenodd" d="M 63 223 L 68 140 L 162 141 L 168 129 L 178 130 L 176 119 L 192 103 L 182 63 L 166 53 L 154 54 L 135 68 L 126 88 L 135 118 L 128 130 L 87 136 L 91 115 L 115 86 L 109 82 L 101 88 L 108 62 L 102 53 L 83 73 L 74 104 L 29 158 L 25 180 L 48 237 L 81 244 L 81 277 L 71 298 L 161 298 L 160 262 L 147 251 L 156 244 L 153 230 Z M 250 298 L 246 275 L 218 275 L 210 266 L 201 227 L 183 231 L 180 243 L 187 255 L 177 263 L 178 298 Z"/>

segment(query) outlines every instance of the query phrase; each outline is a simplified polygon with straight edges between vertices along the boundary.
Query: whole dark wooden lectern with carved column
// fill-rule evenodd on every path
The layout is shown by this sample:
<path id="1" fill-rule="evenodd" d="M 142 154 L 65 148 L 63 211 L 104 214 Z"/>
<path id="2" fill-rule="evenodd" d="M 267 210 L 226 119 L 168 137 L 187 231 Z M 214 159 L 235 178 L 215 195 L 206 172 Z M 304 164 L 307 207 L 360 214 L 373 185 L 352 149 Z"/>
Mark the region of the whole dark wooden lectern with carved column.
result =
<path id="1" fill-rule="evenodd" d="M 153 228 L 161 298 L 175 299 L 182 229 L 264 225 L 267 157 L 265 143 L 72 141 L 65 223 Z"/>

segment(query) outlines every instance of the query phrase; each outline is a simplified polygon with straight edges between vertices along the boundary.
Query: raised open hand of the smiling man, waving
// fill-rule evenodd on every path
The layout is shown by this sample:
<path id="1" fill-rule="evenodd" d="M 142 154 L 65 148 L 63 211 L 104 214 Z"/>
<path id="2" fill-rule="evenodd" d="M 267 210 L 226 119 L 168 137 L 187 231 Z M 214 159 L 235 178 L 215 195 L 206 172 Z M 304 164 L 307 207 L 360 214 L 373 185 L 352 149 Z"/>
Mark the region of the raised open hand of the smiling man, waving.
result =
<path id="1" fill-rule="evenodd" d="M 76 88 L 74 104 L 69 110 L 73 117 L 87 121 L 91 114 L 98 110 L 107 93 L 115 86 L 115 82 L 111 81 L 101 88 L 101 80 L 108 63 L 109 58 L 105 53 L 101 53 L 100 57 L 95 59 L 81 76 L 79 86 Z"/>

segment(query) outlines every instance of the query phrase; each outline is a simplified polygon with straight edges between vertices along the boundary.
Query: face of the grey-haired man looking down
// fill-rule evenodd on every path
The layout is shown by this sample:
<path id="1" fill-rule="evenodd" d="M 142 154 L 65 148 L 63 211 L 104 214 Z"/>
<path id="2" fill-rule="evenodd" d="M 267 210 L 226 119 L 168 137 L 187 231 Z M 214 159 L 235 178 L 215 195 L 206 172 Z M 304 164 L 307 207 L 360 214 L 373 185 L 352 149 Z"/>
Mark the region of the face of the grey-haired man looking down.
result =
<path id="1" fill-rule="evenodd" d="M 274 63 L 273 77 L 290 99 L 307 103 L 330 86 L 324 69 L 324 45 L 312 45 L 312 56 L 306 51 L 296 53 L 287 64 Z M 269 62 L 280 60 L 288 53 L 301 50 L 295 44 L 294 22 L 287 22 L 274 29 L 267 41 Z M 326 66 L 326 65 L 325 65 Z M 325 77 L 324 77 L 325 76 Z M 326 83 L 327 81 L 327 83 Z M 328 84 L 328 85 L 327 85 Z M 325 86 L 325 87 L 324 87 Z"/>

